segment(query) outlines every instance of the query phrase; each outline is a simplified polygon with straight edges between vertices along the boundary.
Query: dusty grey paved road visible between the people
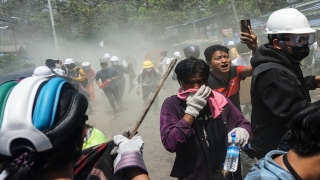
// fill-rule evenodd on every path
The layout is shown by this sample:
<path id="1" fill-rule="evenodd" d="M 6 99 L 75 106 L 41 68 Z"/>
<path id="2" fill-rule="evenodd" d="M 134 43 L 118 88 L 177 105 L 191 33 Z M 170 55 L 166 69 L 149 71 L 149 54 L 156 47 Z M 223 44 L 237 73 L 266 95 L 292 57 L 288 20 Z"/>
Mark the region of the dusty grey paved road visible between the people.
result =
<path id="1" fill-rule="evenodd" d="M 143 110 L 142 96 L 135 95 L 134 91 L 132 95 L 126 93 L 123 100 L 124 111 L 120 112 L 119 117 L 114 118 L 106 96 L 101 93 L 101 90 L 96 89 L 96 102 L 93 104 L 94 114 L 89 116 L 89 124 L 100 129 L 108 140 L 125 130 L 132 130 Z M 161 107 L 166 95 L 165 92 L 160 92 L 159 95 L 159 107 Z M 159 115 L 154 114 L 151 109 L 139 128 L 145 142 L 143 157 L 151 179 L 175 179 L 169 176 L 175 154 L 166 151 L 161 143 L 159 121 Z"/>

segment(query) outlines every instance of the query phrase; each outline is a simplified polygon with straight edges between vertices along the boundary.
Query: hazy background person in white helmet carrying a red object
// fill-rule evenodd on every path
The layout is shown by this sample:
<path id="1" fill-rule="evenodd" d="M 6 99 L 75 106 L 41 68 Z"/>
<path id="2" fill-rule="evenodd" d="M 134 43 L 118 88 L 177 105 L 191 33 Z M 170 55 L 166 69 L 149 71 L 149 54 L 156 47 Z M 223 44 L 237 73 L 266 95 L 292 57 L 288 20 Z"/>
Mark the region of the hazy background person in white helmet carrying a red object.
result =
<path id="1" fill-rule="evenodd" d="M 119 72 L 114 70 L 113 68 L 109 68 L 108 62 L 105 60 L 100 61 L 100 66 L 101 70 L 96 74 L 96 83 L 107 96 L 109 103 L 115 113 L 115 116 L 119 116 L 119 109 L 122 109 L 122 102 L 119 95 L 118 84 L 115 81 L 115 79 L 119 77 Z M 101 83 L 99 81 L 101 81 Z M 108 84 L 106 86 L 103 86 L 102 84 L 107 81 Z M 118 108 L 115 102 L 117 102 Z"/>

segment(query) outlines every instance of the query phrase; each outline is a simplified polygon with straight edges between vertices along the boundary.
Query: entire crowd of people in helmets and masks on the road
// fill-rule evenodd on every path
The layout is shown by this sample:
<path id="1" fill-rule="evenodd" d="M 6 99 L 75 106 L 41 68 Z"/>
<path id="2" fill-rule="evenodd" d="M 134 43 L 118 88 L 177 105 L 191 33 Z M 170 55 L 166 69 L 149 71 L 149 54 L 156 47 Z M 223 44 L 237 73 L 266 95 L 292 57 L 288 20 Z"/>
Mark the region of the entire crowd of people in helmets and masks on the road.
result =
<path id="1" fill-rule="evenodd" d="M 312 50 L 317 64 L 316 30 L 296 9 L 272 13 L 266 24 L 268 43 L 240 32 L 241 43 L 215 44 L 200 59 L 198 45 L 184 47 L 159 61 L 137 62 L 103 54 L 101 69 L 73 59 L 47 59 L 31 77 L 0 85 L 0 180 L 149 179 L 139 133 L 108 141 L 86 124 L 95 101 L 94 82 L 103 90 L 115 116 L 128 93 L 142 92 L 149 102 L 171 61 L 174 72 L 163 86 L 169 96 L 159 109 L 164 148 L 176 154 L 170 176 L 179 180 L 320 179 L 320 102 L 309 90 L 320 88 L 320 76 L 304 77 L 301 62 Z M 318 39 L 319 40 L 319 39 Z M 57 68 L 59 64 L 61 68 Z M 250 86 L 242 81 L 250 79 Z M 243 100 L 241 91 L 250 95 Z M 243 95 L 244 96 L 244 95 Z M 248 120 L 245 115 L 249 113 Z M 240 159 L 235 172 L 223 168 L 235 135 Z"/>

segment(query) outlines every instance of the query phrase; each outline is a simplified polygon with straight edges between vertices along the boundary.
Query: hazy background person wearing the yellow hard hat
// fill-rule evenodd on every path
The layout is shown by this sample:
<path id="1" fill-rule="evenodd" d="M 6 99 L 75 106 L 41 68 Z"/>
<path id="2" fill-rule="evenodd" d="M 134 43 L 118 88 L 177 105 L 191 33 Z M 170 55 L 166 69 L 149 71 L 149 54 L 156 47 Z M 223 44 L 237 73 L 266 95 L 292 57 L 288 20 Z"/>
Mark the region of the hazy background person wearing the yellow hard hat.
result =
<path id="1" fill-rule="evenodd" d="M 156 87 L 160 81 L 161 74 L 160 72 L 153 67 L 151 61 L 144 61 L 143 62 L 143 69 L 139 72 L 137 76 L 137 89 L 136 94 L 140 94 L 140 87 L 142 90 L 142 99 L 144 101 L 144 106 L 148 103 L 149 98 L 151 97 L 152 93 L 156 90 Z M 153 111 L 154 113 L 158 114 L 158 103 L 159 98 L 156 97 L 153 103 Z"/>

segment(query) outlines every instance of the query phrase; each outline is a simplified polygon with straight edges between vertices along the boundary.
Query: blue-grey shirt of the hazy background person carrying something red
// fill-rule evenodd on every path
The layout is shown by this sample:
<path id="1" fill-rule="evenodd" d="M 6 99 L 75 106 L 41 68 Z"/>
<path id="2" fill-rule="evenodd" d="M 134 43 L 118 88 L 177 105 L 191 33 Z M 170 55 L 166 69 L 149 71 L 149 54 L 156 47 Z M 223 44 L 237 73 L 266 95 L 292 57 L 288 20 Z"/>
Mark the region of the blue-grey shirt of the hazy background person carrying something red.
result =
<path id="1" fill-rule="evenodd" d="M 119 72 L 114 69 L 111 69 L 111 68 L 101 69 L 96 74 L 96 81 L 101 80 L 101 83 L 103 83 L 107 79 L 111 79 L 118 75 L 119 75 Z M 104 87 L 104 89 L 117 89 L 117 88 L 118 88 L 118 84 L 116 81 L 111 81 L 106 87 Z"/>

